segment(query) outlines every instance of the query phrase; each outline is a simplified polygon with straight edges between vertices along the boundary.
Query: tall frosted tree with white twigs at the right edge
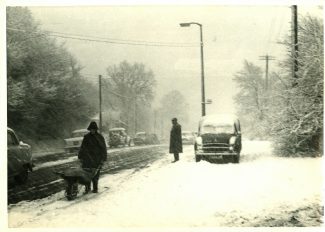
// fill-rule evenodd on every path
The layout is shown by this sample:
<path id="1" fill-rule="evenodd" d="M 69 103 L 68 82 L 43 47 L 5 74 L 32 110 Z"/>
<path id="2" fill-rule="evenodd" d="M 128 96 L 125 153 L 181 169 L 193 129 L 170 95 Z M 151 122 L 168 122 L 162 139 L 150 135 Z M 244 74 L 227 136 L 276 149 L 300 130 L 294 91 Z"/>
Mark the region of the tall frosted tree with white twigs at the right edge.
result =
<path id="1" fill-rule="evenodd" d="M 284 62 L 284 73 L 274 93 L 272 133 L 284 155 L 320 154 L 323 132 L 324 46 L 323 24 L 310 16 L 299 21 L 298 73 L 291 77 L 293 59 Z M 290 43 L 286 43 L 288 50 Z"/>

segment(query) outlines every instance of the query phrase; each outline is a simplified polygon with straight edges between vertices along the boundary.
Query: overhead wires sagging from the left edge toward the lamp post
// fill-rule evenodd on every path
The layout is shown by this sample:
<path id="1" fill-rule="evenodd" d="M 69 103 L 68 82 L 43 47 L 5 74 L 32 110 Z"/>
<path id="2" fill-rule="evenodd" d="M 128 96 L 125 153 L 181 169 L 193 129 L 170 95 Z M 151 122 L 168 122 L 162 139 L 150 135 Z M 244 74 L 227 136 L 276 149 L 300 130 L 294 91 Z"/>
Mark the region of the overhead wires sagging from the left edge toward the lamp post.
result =
<path id="1" fill-rule="evenodd" d="M 29 32 L 23 29 L 7 27 L 7 30 L 18 31 L 29 34 L 37 34 L 39 36 L 53 36 L 57 38 L 64 39 L 74 39 L 88 42 L 99 42 L 99 43 L 109 43 L 109 44 L 125 44 L 125 45 L 137 45 L 137 46 L 153 46 L 153 47 L 198 47 L 199 44 L 194 43 L 176 43 L 176 42 L 153 42 L 153 41 L 141 41 L 141 40 L 124 40 L 124 39 L 112 39 L 112 38 L 103 38 L 96 36 L 87 36 L 87 35 L 77 35 L 77 34 L 68 34 L 62 32 L 54 31 L 45 31 L 45 32 Z"/>

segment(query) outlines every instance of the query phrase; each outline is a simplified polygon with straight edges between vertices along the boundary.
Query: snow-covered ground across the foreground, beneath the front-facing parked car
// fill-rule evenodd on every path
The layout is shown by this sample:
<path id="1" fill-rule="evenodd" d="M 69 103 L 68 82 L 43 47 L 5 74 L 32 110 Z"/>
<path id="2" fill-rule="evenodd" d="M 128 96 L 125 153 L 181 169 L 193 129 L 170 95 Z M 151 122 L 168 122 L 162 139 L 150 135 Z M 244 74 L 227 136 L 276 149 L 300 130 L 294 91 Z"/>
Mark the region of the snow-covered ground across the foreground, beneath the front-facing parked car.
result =
<path id="1" fill-rule="evenodd" d="M 194 161 L 184 147 L 140 170 L 102 176 L 99 194 L 60 192 L 9 206 L 9 227 L 319 226 L 321 158 L 280 158 L 244 141 L 240 164 Z"/>

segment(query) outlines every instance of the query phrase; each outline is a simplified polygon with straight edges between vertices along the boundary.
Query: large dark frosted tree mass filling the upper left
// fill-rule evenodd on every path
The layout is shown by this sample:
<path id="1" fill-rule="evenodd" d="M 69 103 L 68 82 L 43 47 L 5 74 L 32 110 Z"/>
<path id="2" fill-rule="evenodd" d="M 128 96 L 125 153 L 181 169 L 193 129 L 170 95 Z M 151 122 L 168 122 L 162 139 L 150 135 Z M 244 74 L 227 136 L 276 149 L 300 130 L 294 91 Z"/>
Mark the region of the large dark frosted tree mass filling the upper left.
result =
<path id="1" fill-rule="evenodd" d="M 8 126 L 23 138 L 62 138 L 94 113 L 81 67 L 26 7 L 7 7 Z M 87 96 L 87 97 L 86 97 Z"/>

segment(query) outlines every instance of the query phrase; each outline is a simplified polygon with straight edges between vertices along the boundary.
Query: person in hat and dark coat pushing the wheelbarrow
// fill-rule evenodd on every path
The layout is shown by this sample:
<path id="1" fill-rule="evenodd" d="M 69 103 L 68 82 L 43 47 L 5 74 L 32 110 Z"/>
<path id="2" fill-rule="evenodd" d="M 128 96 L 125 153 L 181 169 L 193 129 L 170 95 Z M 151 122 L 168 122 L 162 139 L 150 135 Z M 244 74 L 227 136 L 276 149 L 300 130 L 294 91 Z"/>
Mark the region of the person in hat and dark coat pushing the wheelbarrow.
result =
<path id="1" fill-rule="evenodd" d="M 90 170 L 98 168 L 97 174 L 93 177 L 93 192 L 98 192 L 98 180 L 100 175 L 100 169 L 104 161 L 107 160 L 107 148 L 104 137 L 98 133 L 98 126 L 96 122 L 91 122 L 87 128 L 87 133 L 81 143 L 81 147 L 78 153 L 78 159 L 82 163 L 82 168 Z M 90 183 L 86 185 L 85 193 L 90 191 Z"/>

